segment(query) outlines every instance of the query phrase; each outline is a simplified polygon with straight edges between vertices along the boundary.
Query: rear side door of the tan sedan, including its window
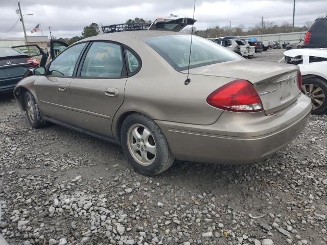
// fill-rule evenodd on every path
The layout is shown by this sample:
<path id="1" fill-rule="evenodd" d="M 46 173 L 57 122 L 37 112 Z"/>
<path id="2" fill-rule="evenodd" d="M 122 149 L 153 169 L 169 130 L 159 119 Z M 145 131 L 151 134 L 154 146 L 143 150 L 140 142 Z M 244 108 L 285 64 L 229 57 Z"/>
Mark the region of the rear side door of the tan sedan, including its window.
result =
<path id="1" fill-rule="evenodd" d="M 127 80 L 123 46 L 104 41 L 91 43 L 78 75 L 69 85 L 75 125 L 111 137 L 112 119 L 123 104 Z"/>

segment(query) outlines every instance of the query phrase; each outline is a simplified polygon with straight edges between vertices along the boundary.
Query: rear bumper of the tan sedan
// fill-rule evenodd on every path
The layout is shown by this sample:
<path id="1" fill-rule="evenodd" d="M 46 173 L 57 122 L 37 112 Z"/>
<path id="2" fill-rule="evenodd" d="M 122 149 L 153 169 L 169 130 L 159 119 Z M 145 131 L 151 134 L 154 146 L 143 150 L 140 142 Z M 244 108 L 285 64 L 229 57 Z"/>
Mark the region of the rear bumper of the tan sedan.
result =
<path id="1" fill-rule="evenodd" d="M 157 123 L 178 160 L 247 164 L 273 154 L 301 133 L 311 112 L 308 99 L 301 95 L 296 103 L 271 116 L 224 112 L 207 126 Z"/>

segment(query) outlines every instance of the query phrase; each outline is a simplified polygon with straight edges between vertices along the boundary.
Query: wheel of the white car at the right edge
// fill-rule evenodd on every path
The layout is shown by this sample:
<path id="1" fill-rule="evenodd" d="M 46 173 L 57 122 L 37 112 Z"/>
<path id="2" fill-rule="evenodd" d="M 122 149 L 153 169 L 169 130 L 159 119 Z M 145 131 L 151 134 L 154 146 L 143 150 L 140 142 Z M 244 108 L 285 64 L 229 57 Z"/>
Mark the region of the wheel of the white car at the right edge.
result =
<path id="1" fill-rule="evenodd" d="M 302 82 L 302 93 L 311 99 L 312 113 L 322 113 L 327 108 L 327 82 L 320 78 L 307 78 Z"/>

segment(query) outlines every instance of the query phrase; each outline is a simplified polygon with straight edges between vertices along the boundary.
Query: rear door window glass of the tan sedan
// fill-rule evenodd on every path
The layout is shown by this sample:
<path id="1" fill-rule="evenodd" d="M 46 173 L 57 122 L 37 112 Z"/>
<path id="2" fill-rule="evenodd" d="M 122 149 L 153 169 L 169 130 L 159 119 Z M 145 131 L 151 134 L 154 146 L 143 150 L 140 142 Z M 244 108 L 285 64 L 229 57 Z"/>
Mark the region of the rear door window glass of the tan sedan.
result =
<path id="1" fill-rule="evenodd" d="M 122 71 L 121 45 L 94 42 L 85 57 L 81 77 L 118 78 L 122 76 Z"/>

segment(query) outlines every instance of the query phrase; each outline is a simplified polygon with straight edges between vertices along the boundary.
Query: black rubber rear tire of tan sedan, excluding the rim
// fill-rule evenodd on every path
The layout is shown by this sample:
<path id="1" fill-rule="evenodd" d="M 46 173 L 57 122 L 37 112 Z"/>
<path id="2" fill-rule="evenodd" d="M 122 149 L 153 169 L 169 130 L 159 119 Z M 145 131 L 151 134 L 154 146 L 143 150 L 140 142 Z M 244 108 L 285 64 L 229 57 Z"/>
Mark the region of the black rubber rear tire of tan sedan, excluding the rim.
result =
<path id="1" fill-rule="evenodd" d="M 129 152 L 127 133 L 129 128 L 135 124 L 141 124 L 145 126 L 151 132 L 157 146 L 155 160 L 149 166 L 143 166 L 136 162 Z M 172 158 L 171 150 L 169 148 L 169 144 L 166 136 L 164 135 L 164 132 L 161 131 L 154 120 L 143 114 L 133 113 L 124 120 L 121 129 L 121 143 L 127 160 L 132 164 L 136 171 L 144 175 L 154 176 L 161 173 L 162 171 L 165 171 L 167 162 Z"/>

